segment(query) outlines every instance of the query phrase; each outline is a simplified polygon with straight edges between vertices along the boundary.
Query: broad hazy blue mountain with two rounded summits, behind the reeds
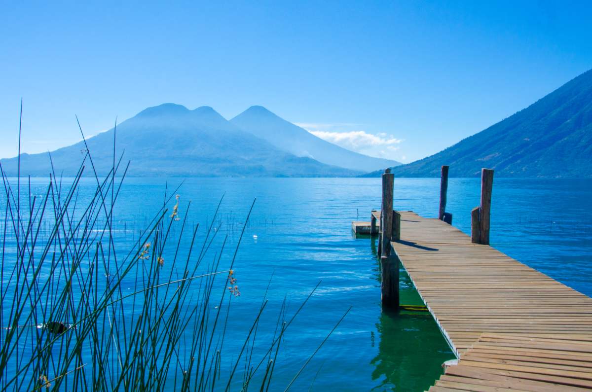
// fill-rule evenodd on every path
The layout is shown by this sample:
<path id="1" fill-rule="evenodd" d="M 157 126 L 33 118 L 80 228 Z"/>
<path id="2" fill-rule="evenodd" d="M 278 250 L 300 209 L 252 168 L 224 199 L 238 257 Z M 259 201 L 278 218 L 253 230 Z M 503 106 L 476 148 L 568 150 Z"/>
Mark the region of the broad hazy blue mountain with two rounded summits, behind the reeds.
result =
<path id="1" fill-rule="evenodd" d="M 112 165 L 114 130 L 87 140 L 99 173 Z M 188 110 L 163 104 L 147 108 L 117 126 L 117 155 L 131 160 L 132 176 L 349 176 L 337 168 L 279 150 L 240 130 L 213 108 Z M 51 153 L 56 173 L 73 175 L 86 147 L 83 142 Z M 16 175 L 17 158 L 0 160 L 8 175 Z M 21 155 L 21 174 L 46 176 L 48 153 Z M 92 173 L 89 162 L 86 174 Z M 359 173 L 359 172 L 357 172 Z"/>

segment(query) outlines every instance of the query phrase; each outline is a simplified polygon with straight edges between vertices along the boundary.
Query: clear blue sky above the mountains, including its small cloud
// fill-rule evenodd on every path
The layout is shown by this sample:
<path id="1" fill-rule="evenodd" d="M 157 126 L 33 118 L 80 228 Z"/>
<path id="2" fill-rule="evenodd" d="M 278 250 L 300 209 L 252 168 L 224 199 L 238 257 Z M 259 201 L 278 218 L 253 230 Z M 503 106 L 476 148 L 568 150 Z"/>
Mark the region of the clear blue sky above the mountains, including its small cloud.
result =
<path id="1" fill-rule="evenodd" d="M 592 68 L 589 1 L 85 3 L 0 5 L 0 158 L 22 97 L 24 152 L 175 102 L 411 162 Z"/>

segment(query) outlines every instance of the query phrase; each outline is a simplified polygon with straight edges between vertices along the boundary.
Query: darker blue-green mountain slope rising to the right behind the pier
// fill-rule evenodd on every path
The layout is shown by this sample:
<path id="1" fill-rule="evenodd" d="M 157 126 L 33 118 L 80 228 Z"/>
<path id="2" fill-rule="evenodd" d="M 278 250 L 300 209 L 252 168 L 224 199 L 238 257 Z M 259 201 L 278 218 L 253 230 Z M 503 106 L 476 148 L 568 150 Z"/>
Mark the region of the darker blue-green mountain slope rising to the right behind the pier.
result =
<path id="1" fill-rule="evenodd" d="M 442 165 L 450 165 L 449 175 L 456 177 L 477 176 L 484 167 L 503 177 L 592 177 L 592 70 L 484 131 L 392 172 L 440 176 Z"/>

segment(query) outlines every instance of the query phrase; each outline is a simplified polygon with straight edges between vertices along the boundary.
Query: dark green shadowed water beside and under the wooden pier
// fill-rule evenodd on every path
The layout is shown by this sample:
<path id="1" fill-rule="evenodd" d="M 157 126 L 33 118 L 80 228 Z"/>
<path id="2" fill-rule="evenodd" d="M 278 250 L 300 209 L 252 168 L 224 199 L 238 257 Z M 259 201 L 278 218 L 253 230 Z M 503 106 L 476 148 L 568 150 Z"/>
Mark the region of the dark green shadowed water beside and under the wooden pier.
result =
<path id="1" fill-rule="evenodd" d="M 375 239 L 371 252 L 377 256 Z M 375 279 L 380 282 L 377 261 Z M 424 305 L 405 269 L 399 270 L 400 301 L 405 305 Z M 379 380 L 374 391 L 423 391 L 442 374 L 441 364 L 455 355 L 428 311 L 382 310 L 376 323 L 378 354 L 372 359 L 372 380 Z M 421 364 L 418 366 L 418 364 Z"/>

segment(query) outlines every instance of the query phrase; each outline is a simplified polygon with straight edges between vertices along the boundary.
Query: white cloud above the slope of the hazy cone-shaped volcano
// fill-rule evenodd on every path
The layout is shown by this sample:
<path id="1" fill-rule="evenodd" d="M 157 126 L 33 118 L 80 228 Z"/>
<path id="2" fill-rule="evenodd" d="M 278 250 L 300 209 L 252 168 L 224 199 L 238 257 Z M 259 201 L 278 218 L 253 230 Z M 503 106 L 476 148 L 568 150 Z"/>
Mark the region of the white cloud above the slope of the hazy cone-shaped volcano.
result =
<path id="1" fill-rule="evenodd" d="M 377 158 L 399 159 L 395 152 L 403 139 L 380 132 L 377 134 L 368 133 L 362 130 L 355 131 L 332 131 L 335 127 L 352 127 L 359 124 L 297 124 L 314 136 L 320 137 L 327 142 L 337 144 L 345 149 L 359 152 Z"/>

